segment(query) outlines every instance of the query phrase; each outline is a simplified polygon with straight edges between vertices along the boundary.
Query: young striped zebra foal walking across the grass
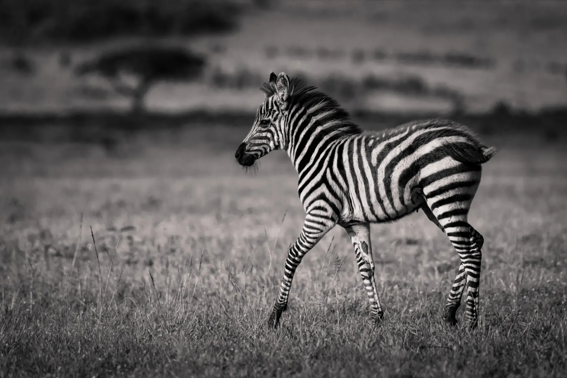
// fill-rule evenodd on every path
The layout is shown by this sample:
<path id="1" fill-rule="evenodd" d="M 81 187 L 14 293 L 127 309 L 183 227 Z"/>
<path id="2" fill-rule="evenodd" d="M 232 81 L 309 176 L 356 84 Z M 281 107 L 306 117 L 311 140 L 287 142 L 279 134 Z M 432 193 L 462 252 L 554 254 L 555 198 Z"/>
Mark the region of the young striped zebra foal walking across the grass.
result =
<path id="1" fill-rule="evenodd" d="M 335 100 L 285 73 L 270 74 L 265 101 L 235 158 L 243 166 L 285 150 L 299 175 L 306 212 L 289 249 L 280 292 L 268 319 L 276 328 L 303 256 L 336 224 L 350 236 L 370 302 L 370 321 L 383 319 L 374 280 L 370 223 L 392 222 L 422 209 L 446 233 L 460 265 L 443 318 L 456 325 L 467 286 L 466 321 L 477 325 L 483 236 L 467 220 L 480 184 L 486 147 L 465 126 L 447 120 L 410 122 L 385 132 L 362 131 Z"/>

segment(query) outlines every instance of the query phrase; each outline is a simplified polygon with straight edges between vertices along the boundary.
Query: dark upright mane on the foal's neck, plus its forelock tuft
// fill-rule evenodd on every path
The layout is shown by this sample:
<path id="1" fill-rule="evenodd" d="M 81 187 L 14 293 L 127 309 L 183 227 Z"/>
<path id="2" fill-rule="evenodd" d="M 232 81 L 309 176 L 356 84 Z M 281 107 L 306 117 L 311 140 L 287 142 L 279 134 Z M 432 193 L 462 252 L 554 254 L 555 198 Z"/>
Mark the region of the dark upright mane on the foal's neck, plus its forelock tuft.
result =
<path id="1" fill-rule="evenodd" d="M 359 134 L 362 130 L 350 120 L 350 114 L 341 108 L 335 99 L 318 91 L 316 87 L 304 86 L 298 78 L 290 79 L 290 104 L 304 108 L 317 108 L 318 114 L 325 114 L 320 119 L 321 124 L 329 124 L 329 128 L 340 128 L 344 134 Z M 260 88 L 268 97 L 277 94 L 276 83 L 264 83 Z"/>

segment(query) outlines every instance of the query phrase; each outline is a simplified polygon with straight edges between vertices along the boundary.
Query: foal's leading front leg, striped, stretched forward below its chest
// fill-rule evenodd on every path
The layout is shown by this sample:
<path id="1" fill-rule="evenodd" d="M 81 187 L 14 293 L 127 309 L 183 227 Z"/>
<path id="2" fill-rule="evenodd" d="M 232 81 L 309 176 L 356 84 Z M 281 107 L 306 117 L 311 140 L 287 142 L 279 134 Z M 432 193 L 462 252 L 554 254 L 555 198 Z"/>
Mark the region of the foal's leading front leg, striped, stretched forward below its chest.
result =
<path id="1" fill-rule="evenodd" d="M 289 252 L 287 252 L 284 277 L 280 285 L 278 299 L 276 300 L 276 304 L 274 304 L 272 314 L 268 318 L 268 326 L 270 326 L 270 328 L 278 327 L 280 317 L 287 309 L 287 298 L 289 297 L 291 282 L 293 281 L 295 269 L 297 269 L 297 266 L 301 263 L 303 256 L 305 256 L 311 248 L 315 247 L 315 244 L 321 240 L 321 237 L 325 236 L 325 233 L 329 232 L 334 226 L 335 221 L 331 219 L 307 214 L 301 234 L 291 246 Z"/>

